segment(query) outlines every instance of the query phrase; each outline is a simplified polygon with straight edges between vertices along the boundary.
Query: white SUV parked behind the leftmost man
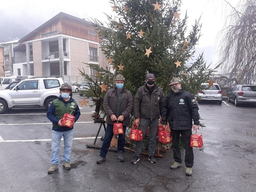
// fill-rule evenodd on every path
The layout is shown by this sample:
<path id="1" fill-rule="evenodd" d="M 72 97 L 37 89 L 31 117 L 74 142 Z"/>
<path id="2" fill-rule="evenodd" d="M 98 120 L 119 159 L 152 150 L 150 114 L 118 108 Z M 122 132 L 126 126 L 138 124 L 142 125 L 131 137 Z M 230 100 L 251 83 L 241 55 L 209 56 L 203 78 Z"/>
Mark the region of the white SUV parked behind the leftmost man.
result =
<path id="1" fill-rule="evenodd" d="M 14 107 L 40 106 L 49 108 L 51 102 L 60 96 L 62 78 L 42 77 L 25 79 L 11 90 L 0 90 L 0 114 Z"/>

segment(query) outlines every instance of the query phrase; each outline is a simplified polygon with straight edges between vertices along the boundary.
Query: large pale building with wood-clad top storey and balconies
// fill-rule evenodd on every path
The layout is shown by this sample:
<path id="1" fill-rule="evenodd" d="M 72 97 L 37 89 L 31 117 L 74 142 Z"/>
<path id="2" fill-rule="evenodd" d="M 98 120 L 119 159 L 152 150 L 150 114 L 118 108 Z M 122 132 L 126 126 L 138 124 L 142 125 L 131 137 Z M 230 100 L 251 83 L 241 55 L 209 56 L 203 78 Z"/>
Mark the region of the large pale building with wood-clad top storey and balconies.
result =
<path id="1" fill-rule="evenodd" d="M 61 12 L 19 40 L 11 75 L 56 76 L 81 83 L 78 69 L 93 78 L 94 71 L 86 64 L 108 65 L 99 42 L 90 22 Z"/>

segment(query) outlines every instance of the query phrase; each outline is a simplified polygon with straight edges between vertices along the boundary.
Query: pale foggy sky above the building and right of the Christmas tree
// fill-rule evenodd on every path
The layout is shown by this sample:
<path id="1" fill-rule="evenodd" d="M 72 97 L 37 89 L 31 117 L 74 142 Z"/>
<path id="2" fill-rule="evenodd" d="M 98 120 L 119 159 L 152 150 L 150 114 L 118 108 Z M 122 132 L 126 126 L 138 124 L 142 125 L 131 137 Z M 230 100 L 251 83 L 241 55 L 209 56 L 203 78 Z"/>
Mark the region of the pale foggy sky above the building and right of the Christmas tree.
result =
<path id="1" fill-rule="evenodd" d="M 239 0 L 227 0 L 236 7 Z M 217 58 L 217 34 L 224 27 L 224 21 L 230 13 L 230 7 L 223 0 L 183 0 L 181 6 L 182 19 L 187 11 L 188 30 L 201 16 L 201 38 L 196 47 L 197 54 L 204 51 L 207 63 L 215 64 Z M 106 20 L 104 13 L 113 14 L 111 4 L 107 0 L 7 0 L 0 6 L 0 41 L 10 41 L 29 34 L 60 12 L 78 18 L 97 18 Z M 11 38 L 11 39 L 10 39 Z"/>

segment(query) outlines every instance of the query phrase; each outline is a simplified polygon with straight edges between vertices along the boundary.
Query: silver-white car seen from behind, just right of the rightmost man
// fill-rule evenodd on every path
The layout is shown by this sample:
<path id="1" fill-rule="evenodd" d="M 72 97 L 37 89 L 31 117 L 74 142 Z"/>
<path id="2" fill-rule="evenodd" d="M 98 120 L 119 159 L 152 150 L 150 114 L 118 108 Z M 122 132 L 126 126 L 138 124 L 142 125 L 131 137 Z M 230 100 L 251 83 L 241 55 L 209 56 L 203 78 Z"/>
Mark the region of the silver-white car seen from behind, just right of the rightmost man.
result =
<path id="1" fill-rule="evenodd" d="M 217 83 L 213 83 L 212 86 L 209 87 L 208 83 L 203 84 L 204 89 L 199 91 L 197 94 L 198 103 L 201 101 L 217 101 L 218 104 L 222 103 L 222 92 Z"/>

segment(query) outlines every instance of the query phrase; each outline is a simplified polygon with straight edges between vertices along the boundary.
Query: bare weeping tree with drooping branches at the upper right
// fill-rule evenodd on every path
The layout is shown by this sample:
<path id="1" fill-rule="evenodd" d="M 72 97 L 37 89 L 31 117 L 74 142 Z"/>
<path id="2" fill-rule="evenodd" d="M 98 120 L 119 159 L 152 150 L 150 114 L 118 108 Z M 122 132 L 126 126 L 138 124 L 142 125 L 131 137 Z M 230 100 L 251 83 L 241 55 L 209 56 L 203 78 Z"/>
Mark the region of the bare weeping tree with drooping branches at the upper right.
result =
<path id="1" fill-rule="evenodd" d="M 231 7 L 229 23 L 221 33 L 220 60 L 222 73 L 240 76 L 244 82 L 255 82 L 256 78 L 256 0 L 242 0 Z"/>

